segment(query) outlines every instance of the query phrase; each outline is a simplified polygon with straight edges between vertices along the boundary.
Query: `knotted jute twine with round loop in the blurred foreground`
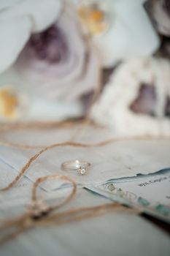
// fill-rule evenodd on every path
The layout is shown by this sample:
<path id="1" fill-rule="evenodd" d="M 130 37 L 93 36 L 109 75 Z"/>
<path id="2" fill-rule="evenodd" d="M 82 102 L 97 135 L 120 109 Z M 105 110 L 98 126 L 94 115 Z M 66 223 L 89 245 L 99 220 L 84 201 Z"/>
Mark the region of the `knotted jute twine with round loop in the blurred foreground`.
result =
<path id="1" fill-rule="evenodd" d="M 58 178 L 69 181 L 72 184 L 72 191 L 61 203 L 55 206 L 47 206 L 47 203 L 39 200 L 39 198 L 36 197 L 36 189 L 37 187 L 39 187 L 40 183 Z M 72 178 L 69 178 L 67 176 L 60 176 L 58 174 L 38 178 L 32 187 L 31 203 L 28 206 L 26 212 L 15 219 L 8 219 L 0 222 L 0 244 L 6 243 L 11 239 L 16 238 L 24 231 L 36 226 L 46 226 L 54 224 L 62 225 L 69 222 L 88 219 L 90 217 L 96 217 L 101 214 L 106 214 L 109 211 L 120 210 L 123 208 L 123 206 L 121 206 L 119 203 L 106 203 L 100 206 L 74 208 L 71 210 L 65 210 L 55 213 L 58 208 L 61 208 L 61 206 L 69 203 L 69 201 L 72 200 L 75 194 L 76 183 L 72 180 Z M 131 210 L 129 208 L 124 209 L 126 212 L 139 214 L 139 211 Z"/>

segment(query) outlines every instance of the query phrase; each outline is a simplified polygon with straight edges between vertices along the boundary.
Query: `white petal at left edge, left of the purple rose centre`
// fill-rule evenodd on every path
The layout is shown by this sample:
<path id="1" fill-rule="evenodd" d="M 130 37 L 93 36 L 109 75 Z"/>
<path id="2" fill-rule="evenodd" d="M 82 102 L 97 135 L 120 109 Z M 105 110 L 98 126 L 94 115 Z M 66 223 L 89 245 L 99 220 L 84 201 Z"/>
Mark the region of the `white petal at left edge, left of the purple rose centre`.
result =
<path id="1" fill-rule="evenodd" d="M 0 73 L 18 58 L 20 50 L 28 41 L 31 22 L 28 17 L 19 17 L 0 22 Z"/>

